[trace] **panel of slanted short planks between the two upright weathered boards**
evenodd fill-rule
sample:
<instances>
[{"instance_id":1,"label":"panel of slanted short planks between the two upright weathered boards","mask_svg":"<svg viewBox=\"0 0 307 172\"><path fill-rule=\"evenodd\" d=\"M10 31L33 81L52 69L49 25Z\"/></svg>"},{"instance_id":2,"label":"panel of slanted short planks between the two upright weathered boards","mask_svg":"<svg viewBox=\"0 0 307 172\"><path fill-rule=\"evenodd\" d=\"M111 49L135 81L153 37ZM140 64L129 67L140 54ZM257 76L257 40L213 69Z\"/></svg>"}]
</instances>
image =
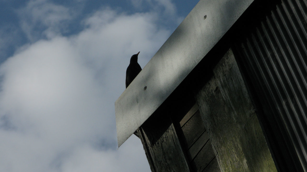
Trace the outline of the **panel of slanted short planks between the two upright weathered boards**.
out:
<instances>
[{"instance_id":1,"label":"panel of slanted short planks between the two upright weathered boards","mask_svg":"<svg viewBox=\"0 0 307 172\"><path fill-rule=\"evenodd\" d=\"M181 145L185 147L187 161L192 171L220 172L211 140L206 131L204 117L197 104L179 122L182 132Z\"/></svg>"}]
</instances>

